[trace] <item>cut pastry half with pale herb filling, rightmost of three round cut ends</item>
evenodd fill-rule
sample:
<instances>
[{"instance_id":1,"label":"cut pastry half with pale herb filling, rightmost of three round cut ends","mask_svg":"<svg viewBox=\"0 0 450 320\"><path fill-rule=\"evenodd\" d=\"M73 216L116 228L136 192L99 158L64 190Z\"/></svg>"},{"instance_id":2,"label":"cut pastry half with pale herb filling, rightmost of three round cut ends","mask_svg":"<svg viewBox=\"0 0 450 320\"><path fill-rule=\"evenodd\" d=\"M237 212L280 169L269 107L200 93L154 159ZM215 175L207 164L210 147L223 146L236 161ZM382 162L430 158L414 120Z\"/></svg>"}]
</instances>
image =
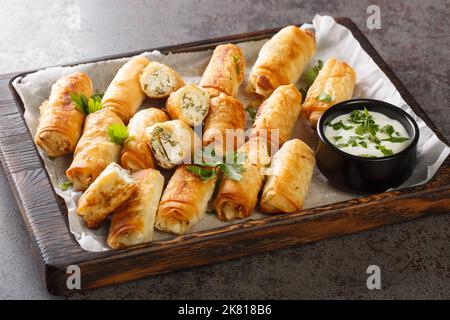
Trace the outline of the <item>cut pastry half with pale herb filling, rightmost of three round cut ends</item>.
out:
<instances>
[{"instance_id":1,"label":"cut pastry half with pale herb filling, rightmost of three round cut ends","mask_svg":"<svg viewBox=\"0 0 450 320\"><path fill-rule=\"evenodd\" d=\"M172 119L179 119L194 127L205 119L209 103L208 92L195 84L188 84L170 94L166 109Z\"/></svg>"}]
</instances>

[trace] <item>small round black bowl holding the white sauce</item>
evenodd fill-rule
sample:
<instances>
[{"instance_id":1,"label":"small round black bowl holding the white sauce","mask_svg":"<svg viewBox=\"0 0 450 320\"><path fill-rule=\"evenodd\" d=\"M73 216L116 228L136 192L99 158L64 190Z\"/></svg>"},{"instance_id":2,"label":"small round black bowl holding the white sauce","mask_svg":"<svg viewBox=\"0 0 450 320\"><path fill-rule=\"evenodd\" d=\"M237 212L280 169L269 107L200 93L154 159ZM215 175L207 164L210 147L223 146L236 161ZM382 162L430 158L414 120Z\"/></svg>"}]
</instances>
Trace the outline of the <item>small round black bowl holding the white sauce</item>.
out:
<instances>
[{"instance_id":1,"label":"small round black bowl holding the white sauce","mask_svg":"<svg viewBox=\"0 0 450 320\"><path fill-rule=\"evenodd\" d=\"M328 120L363 110L383 113L399 121L411 138L410 144L399 153L381 158L366 158L345 153L325 137L324 126ZM319 142L316 149L317 166L331 184L352 191L380 192L396 187L411 175L417 158L419 128L404 110L384 101L354 99L338 103L324 112L317 123Z\"/></svg>"}]
</instances>

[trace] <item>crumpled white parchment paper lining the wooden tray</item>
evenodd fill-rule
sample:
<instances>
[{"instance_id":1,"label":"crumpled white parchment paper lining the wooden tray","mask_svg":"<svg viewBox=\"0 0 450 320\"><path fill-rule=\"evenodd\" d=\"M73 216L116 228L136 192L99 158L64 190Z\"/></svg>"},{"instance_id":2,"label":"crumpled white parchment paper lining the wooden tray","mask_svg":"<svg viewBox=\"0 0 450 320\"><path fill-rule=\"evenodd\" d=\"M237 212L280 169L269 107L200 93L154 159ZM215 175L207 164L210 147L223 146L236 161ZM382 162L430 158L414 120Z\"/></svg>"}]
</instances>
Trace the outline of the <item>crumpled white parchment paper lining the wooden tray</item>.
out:
<instances>
[{"instance_id":1,"label":"crumpled white parchment paper lining the wooden tray","mask_svg":"<svg viewBox=\"0 0 450 320\"><path fill-rule=\"evenodd\" d=\"M417 168L408 181L400 186L400 188L422 184L430 180L450 153L450 148L437 138L422 119L414 114L388 77L361 48L358 41L347 28L337 24L331 17L319 15L314 17L312 25L304 25L303 28L313 28L316 34L318 51L313 61L311 61L310 66L315 65L319 59L325 61L330 57L336 57L346 61L356 70L357 74L354 98L371 98L390 102L406 110L416 120L420 129ZM246 79L265 41L267 40L239 44L246 58ZM198 83L209 62L211 53L212 51L203 51L162 55L155 51L150 53L145 52L143 54L150 60L159 61L173 67L186 83ZM116 59L82 64L74 67L52 67L29 74L21 79L16 79L14 87L24 102L25 121L32 135L35 135L38 125L38 108L48 98L51 85L58 78L74 71L83 71L91 77L96 90L104 91L117 70L126 61L127 59ZM250 101L244 92L245 86L246 83L244 82L241 85L238 98L244 105L247 105ZM301 83L298 86L301 86ZM146 101L142 108L149 106L161 106L161 102ZM314 147L316 141L314 132L304 119L299 119L293 137L304 140L311 147ZM67 180L65 170L69 167L72 156L66 156L52 161L42 151L39 152L44 160L45 167L56 193L66 202L70 231L75 235L81 247L89 251L109 250L106 244L109 226L105 224L105 226L98 230L90 230L85 227L81 218L76 215L76 203L81 193L73 192L72 190L61 191L58 188L61 182ZM332 187L316 169L305 201L305 208L345 201L359 196L359 194L348 193ZM259 219L265 216L265 214L255 210L250 219ZM218 220L214 215L207 214L205 219L195 225L190 232L217 228L230 223L236 222L223 222ZM155 239L158 240L173 237L173 235L159 231L155 232Z\"/></svg>"}]
</instances>

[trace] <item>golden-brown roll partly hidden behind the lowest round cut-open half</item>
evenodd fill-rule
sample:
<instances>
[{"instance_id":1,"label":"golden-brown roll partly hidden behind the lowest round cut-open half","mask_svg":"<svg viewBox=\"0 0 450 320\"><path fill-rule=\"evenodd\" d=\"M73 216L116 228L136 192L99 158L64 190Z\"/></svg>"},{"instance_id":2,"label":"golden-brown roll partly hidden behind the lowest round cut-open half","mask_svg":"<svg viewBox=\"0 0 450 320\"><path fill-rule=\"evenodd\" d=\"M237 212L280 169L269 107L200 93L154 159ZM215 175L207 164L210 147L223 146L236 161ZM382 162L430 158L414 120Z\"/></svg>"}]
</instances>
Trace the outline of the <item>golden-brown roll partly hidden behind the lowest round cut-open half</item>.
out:
<instances>
[{"instance_id":1,"label":"golden-brown roll partly hidden behind the lowest round cut-open half","mask_svg":"<svg viewBox=\"0 0 450 320\"><path fill-rule=\"evenodd\" d=\"M145 129L157 122L168 120L166 113L156 108L141 110L131 118L128 124L128 139L120 158L122 167L132 172L155 167L155 159L145 140Z\"/></svg>"}]
</instances>

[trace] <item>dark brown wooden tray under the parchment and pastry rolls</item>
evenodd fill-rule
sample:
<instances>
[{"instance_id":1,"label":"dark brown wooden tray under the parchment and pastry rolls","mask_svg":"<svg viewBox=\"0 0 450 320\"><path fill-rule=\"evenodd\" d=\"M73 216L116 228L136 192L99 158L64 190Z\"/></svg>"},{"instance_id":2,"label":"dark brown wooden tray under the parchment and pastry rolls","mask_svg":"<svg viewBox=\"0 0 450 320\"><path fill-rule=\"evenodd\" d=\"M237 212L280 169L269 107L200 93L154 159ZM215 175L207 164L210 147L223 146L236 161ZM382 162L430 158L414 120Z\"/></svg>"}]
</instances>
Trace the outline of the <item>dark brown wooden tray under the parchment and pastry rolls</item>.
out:
<instances>
[{"instance_id":1,"label":"dark brown wooden tray under the parchment and pastry rolls","mask_svg":"<svg viewBox=\"0 0 450 320\"><path fill-rule=\"evenodd\" d=\"M445 141L358 27L348 18L336 20L353 32L362 47L394 83L403 99ZM213 48L220 43L268 38L278 30L258 31L157 50L163 53L198 51ZM153 49L148 51L151 50ZM127 57L137 53L83 62ZM450 211L450 160L447 157L435 177L425 185L307 209L296 214L238 222L223 228L118 251L87 252L78 245L68 229L67 212L52 188L24 122L21 99L11 86L12 79L27 73L0 76L0 157L31 235L39 273L45 287L53 294L73 292L66 286L69 265L81 268L81 289L91 289Z\"/></svg>"}]
</instances>

